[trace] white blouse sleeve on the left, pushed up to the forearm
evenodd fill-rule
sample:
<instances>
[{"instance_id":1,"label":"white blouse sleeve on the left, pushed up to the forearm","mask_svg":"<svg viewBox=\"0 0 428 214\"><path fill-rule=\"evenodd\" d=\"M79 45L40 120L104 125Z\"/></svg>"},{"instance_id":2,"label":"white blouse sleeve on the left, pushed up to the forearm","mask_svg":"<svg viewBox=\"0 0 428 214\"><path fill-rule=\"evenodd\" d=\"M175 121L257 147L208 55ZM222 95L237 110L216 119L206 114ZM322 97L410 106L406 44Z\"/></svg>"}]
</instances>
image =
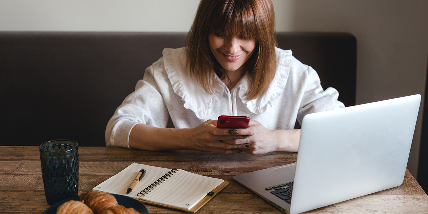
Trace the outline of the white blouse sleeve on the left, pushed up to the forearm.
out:
<instances>
[{"instance_id":1,"label":"white blouse sleeve on the left, pushed up to the forearm","mask_svg":"<svg viewBox=\"0 0 428 214\"><path fill-rule=\"evenodd\" d=\"M131 129L138 123L163 128L167 126L169 113L155 81L154 70L153 65L146 69L135 91L125 98L110 118L105 133L107 147L129 148Z\"/></svg>"}]
</instances>

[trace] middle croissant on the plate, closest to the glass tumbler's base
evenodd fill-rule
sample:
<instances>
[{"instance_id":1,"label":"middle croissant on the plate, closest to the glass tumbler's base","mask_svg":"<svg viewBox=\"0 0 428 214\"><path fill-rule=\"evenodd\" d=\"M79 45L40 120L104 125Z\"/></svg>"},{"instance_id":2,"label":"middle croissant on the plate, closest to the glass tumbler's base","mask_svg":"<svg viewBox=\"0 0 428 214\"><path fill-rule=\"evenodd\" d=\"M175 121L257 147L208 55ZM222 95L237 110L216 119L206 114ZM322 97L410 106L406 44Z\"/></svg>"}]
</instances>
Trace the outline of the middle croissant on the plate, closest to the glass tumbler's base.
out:
<instances>
[{"instance_id":1,"label":"middle croissant on the plate, closest to the glass tumbler's base","mask_svg":"<svg viewBox=\"0 0 428 214\"><path fill-rule=\"evenodd\" d=\"M113 195L92 190L82 193L79 199L88 205L95 214L100 214L105 209L118 205Z\"/></svg>"}]
</instances>

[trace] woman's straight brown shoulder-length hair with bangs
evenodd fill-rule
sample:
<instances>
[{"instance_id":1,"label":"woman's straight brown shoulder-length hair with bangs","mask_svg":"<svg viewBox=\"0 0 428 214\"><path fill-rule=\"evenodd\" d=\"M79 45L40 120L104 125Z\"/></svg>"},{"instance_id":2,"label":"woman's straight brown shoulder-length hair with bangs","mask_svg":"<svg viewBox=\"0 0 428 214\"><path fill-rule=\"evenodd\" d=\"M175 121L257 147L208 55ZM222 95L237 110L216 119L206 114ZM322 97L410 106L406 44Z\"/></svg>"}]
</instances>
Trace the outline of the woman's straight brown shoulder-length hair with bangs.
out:
<instances>
[{"instance_id":1,"label":"woman's straight brown shoulder-length hair with bangs","mask_svg":"<svg viewBox=\"0 0 428 214\"><path fill-rule=\"evenodd\" d=\"M211 53L208 35L219 31L227 35L238 27L245 38L256 40L254 53L245 64L251 81L245 96L253 100L268 90L275 76L275 14L271 0L201 0L186 38L186 64L193 78L212 94L209 71L214 68L222 79L226 73Z\"/></svg>"}]
</instances>

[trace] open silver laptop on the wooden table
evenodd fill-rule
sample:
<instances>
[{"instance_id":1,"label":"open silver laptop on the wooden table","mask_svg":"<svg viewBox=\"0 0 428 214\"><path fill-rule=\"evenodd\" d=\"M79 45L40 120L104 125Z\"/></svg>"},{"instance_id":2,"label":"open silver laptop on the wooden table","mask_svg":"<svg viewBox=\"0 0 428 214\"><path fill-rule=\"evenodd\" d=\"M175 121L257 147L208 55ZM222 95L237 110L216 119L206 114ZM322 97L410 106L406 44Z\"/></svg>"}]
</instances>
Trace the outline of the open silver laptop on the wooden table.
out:
<instances>
[{"instance_id":1,"label":"open silver laptop on the wooden table","mask_svg":"<svg viewBox=\"0 0 428 214\"><path fill-rule=\"evenodd\" d=\"M295 163L233 179L290 214L399 186L420 102L416 94L307 114Z\"/></svg>"}]
</instances>

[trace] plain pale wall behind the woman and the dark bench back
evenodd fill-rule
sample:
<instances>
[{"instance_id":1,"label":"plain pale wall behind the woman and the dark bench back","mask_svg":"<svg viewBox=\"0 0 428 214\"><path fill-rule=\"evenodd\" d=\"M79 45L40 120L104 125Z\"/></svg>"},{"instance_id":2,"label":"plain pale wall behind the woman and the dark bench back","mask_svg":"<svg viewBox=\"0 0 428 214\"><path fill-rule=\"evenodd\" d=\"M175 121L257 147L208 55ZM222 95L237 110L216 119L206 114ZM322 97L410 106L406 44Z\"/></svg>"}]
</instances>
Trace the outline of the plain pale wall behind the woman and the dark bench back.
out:
<instances>
[{"instance_id":1,"label":"plain pale wall behind the woman and the dark bench back","mask_svg":"<svg viewBox=\"0 0 428 214\"><path fill-rule=\"evenodd\" d=\"M198 3L199 0L1 0L0 30L187 32ZM357 37L357 104L410 94L424 96L428 1L273 3L278 32L350 32ZM408 163L414 176L421 121L422 110Z\"/></svg>"}]
</instances>

